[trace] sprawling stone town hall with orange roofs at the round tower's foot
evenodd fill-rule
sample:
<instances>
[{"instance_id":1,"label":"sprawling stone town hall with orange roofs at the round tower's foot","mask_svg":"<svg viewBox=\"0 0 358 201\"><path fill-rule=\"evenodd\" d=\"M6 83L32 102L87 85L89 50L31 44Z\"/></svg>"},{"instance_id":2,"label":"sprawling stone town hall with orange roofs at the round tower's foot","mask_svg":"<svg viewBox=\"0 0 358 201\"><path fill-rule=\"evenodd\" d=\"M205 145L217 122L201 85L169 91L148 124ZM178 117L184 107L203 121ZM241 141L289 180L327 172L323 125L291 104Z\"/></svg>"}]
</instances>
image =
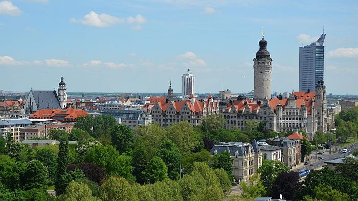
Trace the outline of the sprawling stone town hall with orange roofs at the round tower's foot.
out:
<instances>
[{"instance_id":1,"label":"sprawling stone town hall with orange roofs at the round tower's foot","mask_svg":"<svg viewBox=\"0 0 358 201\"><path fill-rule=\"evenodd\" d=\"M300 129L315 133L317 131L317 108L314 93L294 92L289 98L273 98L250 101L244 96L227 104L220 111L226 119L224 128L246 127L247 121L262 122L264 128L276 132L298 131Z\"/></svg>"}]
</instances>

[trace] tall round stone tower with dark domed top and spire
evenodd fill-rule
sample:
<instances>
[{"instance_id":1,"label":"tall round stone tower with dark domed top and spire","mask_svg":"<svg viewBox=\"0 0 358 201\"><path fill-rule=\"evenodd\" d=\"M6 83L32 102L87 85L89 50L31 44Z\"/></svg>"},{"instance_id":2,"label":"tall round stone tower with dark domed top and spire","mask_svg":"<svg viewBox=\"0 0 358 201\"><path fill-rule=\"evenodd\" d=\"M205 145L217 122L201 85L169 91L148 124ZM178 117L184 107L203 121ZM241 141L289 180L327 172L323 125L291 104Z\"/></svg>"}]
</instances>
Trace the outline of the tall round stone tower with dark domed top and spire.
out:
<instances>
[{"instance_id":1,"label":"tall round stone tower with dark domed top and spire","mask_svg":"<svg viewBox=\"0 0 358 201\"><path fill-rule=\"evenodd\" d=\"M254 58L254 100L262 101L271 99L271 70L272 58L267 51L267 41L263 38L259 41L260 50Z\"/></svg>"}]
</instances>

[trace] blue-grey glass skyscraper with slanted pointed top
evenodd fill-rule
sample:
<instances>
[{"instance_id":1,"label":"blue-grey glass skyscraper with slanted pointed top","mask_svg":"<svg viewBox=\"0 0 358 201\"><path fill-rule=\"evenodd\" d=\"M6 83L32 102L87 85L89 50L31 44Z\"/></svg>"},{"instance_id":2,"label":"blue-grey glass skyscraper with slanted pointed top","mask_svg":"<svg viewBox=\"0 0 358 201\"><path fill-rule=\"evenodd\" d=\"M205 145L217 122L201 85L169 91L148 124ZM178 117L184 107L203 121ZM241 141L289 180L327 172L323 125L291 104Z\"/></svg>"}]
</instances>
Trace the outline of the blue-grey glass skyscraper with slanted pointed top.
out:
<instances>
[{"instance_id":1,"label":"blue-grey glass skyscraper with slanted pointed top","mask_svg":"<svg viewBox=\"0 0 358 201\"><path fill-rule=\"evenodd\" d=\"M315 91L319 81L323 81L324 38L321 37L309 46L300 47L299 91Z\"/></svg>"}]
</instances>

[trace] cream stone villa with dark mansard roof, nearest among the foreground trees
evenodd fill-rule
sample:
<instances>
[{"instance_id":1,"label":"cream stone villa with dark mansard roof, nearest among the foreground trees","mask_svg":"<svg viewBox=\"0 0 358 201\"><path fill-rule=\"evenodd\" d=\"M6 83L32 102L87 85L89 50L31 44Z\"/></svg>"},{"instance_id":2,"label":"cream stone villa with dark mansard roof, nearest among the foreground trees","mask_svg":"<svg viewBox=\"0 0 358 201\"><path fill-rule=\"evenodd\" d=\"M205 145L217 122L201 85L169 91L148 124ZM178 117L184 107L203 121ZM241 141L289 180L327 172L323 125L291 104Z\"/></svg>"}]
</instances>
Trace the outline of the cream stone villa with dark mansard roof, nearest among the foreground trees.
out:
<instances>
[{"instance_id":1,"label":"cream stone villa with dark mansard roof, nearest among the foreground trees","mask_svg":"<svg viewBox=\"0 0 358 201\"><path fill-rule=\"evenodd\" d=\"M262 165L261 150L255 140L252 144L242 142L217 143L210 150L210 153L215 155L224 151L228 151L233 159L232 170L237 182L249 181Z\"/></svg>"}]
</instances>

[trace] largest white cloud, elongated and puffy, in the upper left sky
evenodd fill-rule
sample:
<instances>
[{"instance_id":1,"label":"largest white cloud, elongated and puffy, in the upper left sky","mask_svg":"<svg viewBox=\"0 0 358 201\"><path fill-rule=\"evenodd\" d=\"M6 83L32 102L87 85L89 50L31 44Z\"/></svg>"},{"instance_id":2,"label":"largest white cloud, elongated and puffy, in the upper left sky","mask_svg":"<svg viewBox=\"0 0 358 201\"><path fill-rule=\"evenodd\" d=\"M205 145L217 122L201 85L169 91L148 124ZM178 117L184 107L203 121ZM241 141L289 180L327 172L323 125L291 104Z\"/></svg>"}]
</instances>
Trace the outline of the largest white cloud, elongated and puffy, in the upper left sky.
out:
<instances>
[{"instance_id":1,"label":"largest white cloud, elongated and puffy, in the upper left sky","mask_svg":"<svg viewBox=\"0 0 358 201\"><path fill-rule=\"evenodd\" d=\"M97 14L96 12L91 11L88 14L84 15L82 19L71 18L70 21L71 23L81 23L87 26L103 28L123 23L135 25L145 24L147 19L142 15L137 15L136 17L129 16L127 18L120 18L105 13ZM141 27L138 26L134 27L135 30L138 30L138 28L141 29Z\"/></svg>"}]
</instances>

